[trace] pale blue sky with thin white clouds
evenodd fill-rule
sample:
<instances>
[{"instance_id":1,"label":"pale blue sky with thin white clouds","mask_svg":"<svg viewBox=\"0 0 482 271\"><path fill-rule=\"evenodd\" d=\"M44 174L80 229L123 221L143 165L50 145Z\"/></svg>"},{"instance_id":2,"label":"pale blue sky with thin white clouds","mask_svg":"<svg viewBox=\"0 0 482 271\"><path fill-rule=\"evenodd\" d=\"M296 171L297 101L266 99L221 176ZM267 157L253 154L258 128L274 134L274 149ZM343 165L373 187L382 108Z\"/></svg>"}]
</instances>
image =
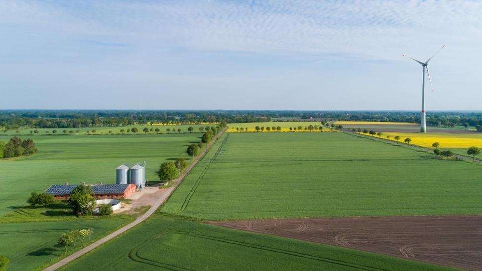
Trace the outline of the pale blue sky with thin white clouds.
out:
<instances>
[{"instance_id":1,"label":"pale blue sky with thin white clouds","mask_svg":"<svg viewBox=\"0 0 482 271\"><path fill-rule=\"evenodd\" d=\"M0 1L0 109L482 109L482 2Z\"/></svg>"}]
</instances>

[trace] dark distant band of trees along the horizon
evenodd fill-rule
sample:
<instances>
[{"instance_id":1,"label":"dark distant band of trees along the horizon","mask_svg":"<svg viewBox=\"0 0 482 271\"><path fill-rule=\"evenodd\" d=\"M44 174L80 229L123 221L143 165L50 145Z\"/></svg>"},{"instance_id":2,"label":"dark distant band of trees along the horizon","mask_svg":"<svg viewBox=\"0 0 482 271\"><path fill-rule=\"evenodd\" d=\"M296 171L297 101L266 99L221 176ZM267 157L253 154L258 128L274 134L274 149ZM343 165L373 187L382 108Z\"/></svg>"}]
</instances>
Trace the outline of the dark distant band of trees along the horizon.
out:
<instances>
[{"instance_id":1,"label":"dark distant band of trees along the horizon","mask_svg":"<svg viewBox=\"0 0 482 271\"><path fill-rule=\"evenodd\" d=\"M82 128L155 123L195 124L266 122L271 120L351 120L420 123L416 111L289 111L289 110L0 110L0 128ZM428 112L427 124L474 126L482 131L482 112Z\"/></svg>"}]
</instances>

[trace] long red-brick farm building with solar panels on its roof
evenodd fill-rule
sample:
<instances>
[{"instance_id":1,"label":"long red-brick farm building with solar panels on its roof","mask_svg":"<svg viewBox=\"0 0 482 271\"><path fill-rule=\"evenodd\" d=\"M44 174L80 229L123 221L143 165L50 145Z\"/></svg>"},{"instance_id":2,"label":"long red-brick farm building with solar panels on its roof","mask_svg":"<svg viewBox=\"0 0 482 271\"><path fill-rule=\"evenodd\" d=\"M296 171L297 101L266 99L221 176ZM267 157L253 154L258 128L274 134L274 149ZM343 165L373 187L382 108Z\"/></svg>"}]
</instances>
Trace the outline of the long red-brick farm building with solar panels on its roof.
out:
<instances>
[{"instance_id":1,"label":"long red-brick farm building with solar panels on its roof","mask_svg":"<svg viewBox=\"0 0 482 271\"><path fill-rule=\"evenodd\" d=\"M68 200L70 193L77 186L68 184L51 185L45 193L54 195L54 198L58 200ZM125 199L136 191L136 186L133 184L98 184L92 185L92 190L96 199Z\"/></svg>"}]
</instances>

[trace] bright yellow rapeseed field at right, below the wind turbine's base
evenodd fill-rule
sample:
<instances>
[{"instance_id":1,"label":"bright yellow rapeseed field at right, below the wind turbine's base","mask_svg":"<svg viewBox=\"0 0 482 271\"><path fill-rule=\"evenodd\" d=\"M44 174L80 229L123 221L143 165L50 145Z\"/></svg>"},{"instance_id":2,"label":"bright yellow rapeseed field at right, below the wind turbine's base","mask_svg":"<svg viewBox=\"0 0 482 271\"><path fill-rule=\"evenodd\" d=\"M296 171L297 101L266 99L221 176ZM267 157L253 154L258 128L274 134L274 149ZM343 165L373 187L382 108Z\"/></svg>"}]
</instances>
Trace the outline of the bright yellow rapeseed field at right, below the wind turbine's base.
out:
<instances>
[{"instance_id":1,"label":"bright yellow rapeseed field at right, below the wind turbine's base","mask_svg":"<svg viewBox=\"0 0 482 271\"><path fill-rule=\"evenodd\" d=\"M399 142L404 142L406 138L412 141L410 144L432 147L434 142L440 143L440 148L470 148L472 146L482 148L482 134L471 133L442 133L442 132L384 132L382 138L387 138L390 135L390 140L395 141L394 137L398 135L401 139ZM378 138L378 135L375 135Z\"/></svg>"}]
</instances>

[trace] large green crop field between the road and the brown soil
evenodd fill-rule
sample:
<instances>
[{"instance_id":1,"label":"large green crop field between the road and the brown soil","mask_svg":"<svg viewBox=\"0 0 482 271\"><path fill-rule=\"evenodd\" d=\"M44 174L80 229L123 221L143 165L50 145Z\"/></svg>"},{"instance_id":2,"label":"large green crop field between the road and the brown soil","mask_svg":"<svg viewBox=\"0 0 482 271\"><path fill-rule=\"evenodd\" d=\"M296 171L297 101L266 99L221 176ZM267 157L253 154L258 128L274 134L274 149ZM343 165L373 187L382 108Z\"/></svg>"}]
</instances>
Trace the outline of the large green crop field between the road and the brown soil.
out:
<instances>
[{"instance_id":1,"label":"large green crop field between the road and the brown soil","mask_svg":"<svg viewBox=\"0 0 482 271\"><path fill-rule=\"evenodd\" d=\"M482 165L344 133L229 133L163 207L212 220L482 214Z\"/></svg>"}]
</instances>

